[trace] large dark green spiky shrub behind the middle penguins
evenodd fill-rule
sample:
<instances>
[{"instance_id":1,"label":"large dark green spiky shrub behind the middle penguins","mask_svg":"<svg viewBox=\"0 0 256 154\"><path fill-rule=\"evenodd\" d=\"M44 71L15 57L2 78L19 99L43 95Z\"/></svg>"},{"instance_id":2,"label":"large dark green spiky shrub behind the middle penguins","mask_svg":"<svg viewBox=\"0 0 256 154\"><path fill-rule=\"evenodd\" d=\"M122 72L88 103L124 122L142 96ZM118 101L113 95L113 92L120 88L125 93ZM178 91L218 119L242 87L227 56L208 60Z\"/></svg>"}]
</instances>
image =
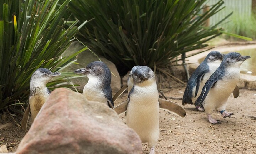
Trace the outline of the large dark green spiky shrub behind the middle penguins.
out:
<instances>
[{"instance_id":1,"label":"large dark green spiky shrub behind the middle penguins","mask_svg":"<svg viewBox=\"0 0 256 154\"><path fill-rule=\"evenodd\" d=\"M223 1L202 14L206 0L74 0L74 19L90 20L80 38L114 62L121 75L134 65L163 68L177 56L206 47L222 29L204 27Z\"/></svg>"}]
</instances>

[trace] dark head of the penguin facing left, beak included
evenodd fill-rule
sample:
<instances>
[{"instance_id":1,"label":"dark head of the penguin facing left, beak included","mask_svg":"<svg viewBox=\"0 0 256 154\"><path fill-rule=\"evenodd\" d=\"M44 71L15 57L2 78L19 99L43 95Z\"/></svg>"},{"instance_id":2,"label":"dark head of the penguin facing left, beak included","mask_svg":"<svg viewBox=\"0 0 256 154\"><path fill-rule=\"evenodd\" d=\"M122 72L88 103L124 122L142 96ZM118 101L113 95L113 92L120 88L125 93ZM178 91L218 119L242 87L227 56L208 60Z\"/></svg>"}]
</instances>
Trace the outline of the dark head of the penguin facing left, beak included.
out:
<instances>
[{"instance_id":1,"label":"dark head of the penguin facing left, beak included","mask_svg":"<svg viewBox=\"0 0 256 154\"><path fill-rule=\"evenodd\" d=\"M108 66L102 61L93 61L89 63L85 68L75 70L74 73L84 74L88 78L99 77L102 79L110 78L111 80L111 72Z\"/></svg>"}]
</instances>

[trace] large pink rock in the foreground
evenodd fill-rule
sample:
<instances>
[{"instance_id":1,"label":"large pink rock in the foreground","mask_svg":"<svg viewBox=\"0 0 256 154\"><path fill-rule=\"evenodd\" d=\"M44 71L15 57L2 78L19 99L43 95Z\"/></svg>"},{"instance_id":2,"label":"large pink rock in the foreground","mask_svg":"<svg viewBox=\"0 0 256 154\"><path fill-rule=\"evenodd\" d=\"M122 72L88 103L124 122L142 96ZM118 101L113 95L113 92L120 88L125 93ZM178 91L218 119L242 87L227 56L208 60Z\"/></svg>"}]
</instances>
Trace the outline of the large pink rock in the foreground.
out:
<instances>
[{"instance_id":1,"label":"large pink rock in the foreground","mask_svg":"<svg viewBox=\"0 0 256 154\"><path fill-rule=\"evenodd\" d=\"M104 103L54 90L21 140L16 154L142 153L139 136Z\"/></svg>"}]
</instances>

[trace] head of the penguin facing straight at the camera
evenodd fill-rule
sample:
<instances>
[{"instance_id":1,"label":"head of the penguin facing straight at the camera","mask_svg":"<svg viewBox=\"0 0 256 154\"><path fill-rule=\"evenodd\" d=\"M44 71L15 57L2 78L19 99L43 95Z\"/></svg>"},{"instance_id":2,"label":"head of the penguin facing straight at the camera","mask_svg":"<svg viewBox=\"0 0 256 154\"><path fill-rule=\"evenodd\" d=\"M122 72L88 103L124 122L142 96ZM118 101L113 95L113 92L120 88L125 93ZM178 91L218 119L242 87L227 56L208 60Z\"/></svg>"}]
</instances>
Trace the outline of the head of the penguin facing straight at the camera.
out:
<instances>
[{"instance_id":1,"label":"head of the penguin facing straight at the camera","mask_svg":"<svg viewBox=\"0 0 256 154\"><path fill-rule=\"evenodd\" d=\"M155 80L154 72L148 66L138 66L133 73L134 84Z\"/></svg>"}]
</instances>

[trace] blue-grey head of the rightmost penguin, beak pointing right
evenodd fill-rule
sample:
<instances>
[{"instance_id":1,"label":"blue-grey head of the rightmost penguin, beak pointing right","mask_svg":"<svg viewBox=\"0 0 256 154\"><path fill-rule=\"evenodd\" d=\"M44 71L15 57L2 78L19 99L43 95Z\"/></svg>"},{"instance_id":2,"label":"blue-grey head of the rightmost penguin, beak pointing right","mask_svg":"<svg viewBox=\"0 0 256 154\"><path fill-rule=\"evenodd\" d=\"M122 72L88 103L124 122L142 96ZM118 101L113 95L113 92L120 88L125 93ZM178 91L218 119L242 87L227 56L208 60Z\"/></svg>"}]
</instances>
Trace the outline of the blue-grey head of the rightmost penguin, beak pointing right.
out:
<instances>
[{"instance_id":1,"label":"blue-grey head of the rightmost penguin, beak pointing right","mask_svg":"<svg viewBox=\"0 0 256 154\"><path fill-rule=\"evenodd\" d=\"M249 59L249 58L251 57L241 56L241 54L237 52L230 52L224 56L222 63L227 66L230 66L230 65L240 66L246 59Z\"/></svg>"}]
</instances>

